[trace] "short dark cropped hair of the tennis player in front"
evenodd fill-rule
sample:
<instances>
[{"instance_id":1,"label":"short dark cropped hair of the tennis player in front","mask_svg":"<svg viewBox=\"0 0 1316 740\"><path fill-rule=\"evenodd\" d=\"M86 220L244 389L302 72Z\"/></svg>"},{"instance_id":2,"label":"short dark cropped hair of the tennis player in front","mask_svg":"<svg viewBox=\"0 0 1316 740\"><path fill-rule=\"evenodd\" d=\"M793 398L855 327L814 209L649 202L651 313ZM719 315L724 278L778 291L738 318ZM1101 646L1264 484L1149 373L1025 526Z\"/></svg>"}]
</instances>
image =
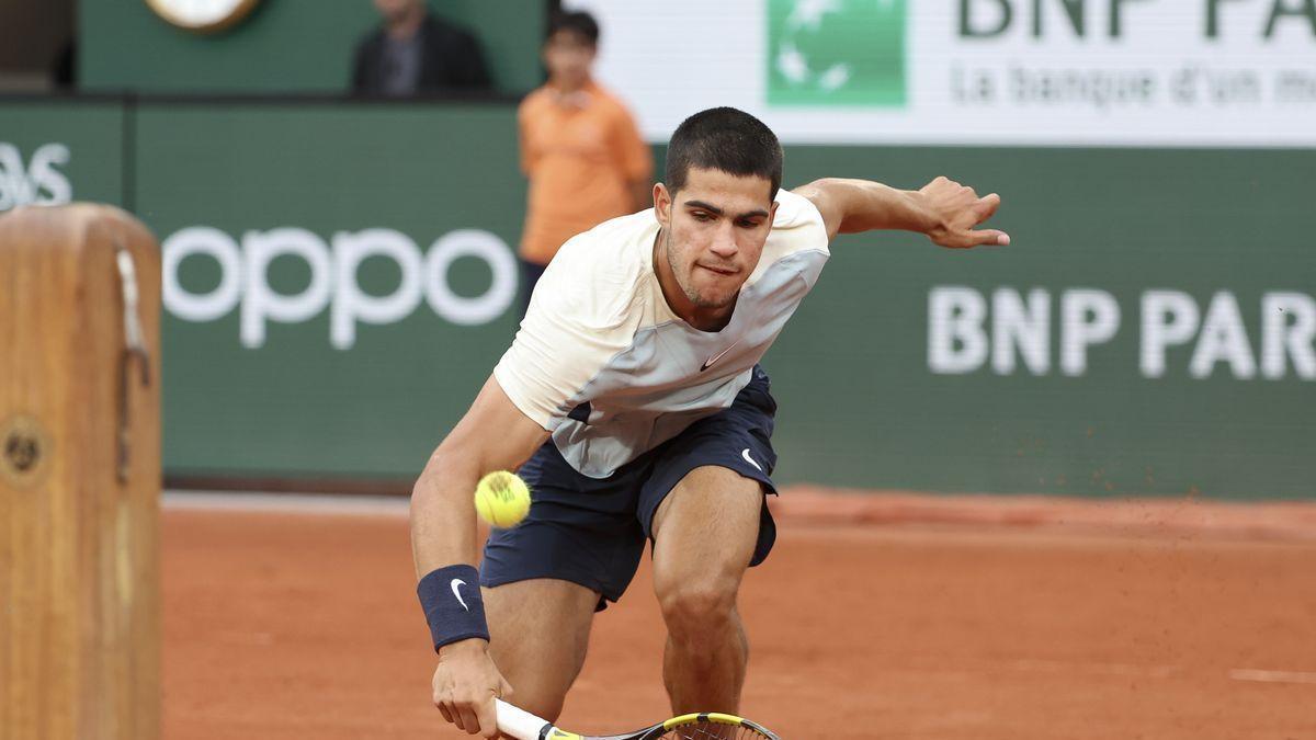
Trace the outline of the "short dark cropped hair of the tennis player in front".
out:
<instances>
[{"instance_id":1,"label":"short dark cropped hair of the tennis player in front","mask_svg":"<svg viewBox=\"0 0 1316 740\"><path fill-rule=\"evenodd\" d=\"M782 187L782 145L763 121L736 108L709 108L686 119L667 145L667 190L686 187L691 167L754 175Z\"/></svg>"}]
</instances>

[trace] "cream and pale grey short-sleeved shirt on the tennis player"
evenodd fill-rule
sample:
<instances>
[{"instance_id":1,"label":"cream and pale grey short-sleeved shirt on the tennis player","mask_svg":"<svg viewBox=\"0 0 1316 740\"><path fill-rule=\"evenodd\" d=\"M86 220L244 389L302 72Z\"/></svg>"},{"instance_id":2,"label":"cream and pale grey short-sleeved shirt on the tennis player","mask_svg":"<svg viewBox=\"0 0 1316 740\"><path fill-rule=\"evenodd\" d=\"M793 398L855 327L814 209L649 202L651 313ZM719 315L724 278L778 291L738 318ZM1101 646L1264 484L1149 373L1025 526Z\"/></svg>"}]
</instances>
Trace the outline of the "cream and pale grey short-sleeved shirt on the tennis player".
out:
<instances>
[{"instance_id":1,"label":"cream and pale grey short-sleeved shirt on the tennis player","mask_svg":"<svg viewBox=\"0 0 1316 740\"><path fill-rule=\"evenodd\" d=\"M605 221L553 258L494 377L579 473L607 478L749 383L830 255L813 203L788 191L776 201L763 255L720 332L667 305L653 209Z\"/></svg>"}]
</instances>

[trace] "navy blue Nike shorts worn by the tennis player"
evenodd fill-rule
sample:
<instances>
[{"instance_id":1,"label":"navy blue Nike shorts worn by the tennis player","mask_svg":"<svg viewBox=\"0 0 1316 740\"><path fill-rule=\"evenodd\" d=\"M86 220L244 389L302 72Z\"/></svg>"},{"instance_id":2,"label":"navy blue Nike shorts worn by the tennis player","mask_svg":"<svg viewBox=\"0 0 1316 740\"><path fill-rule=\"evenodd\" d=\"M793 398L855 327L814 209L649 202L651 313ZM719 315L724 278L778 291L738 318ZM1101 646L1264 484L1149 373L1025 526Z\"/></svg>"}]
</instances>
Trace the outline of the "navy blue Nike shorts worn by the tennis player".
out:
<instances>
[{"instance_id":1,"label":"navy blue Nike shorts worn by the tennis player","mask_svg":"<svg viewBox=\"0 0 1316 740\"><path fill-rule=\"evenodd\" d=\"M653 517L667 492L691 470L716 465L753 478L775 494L772 419L776 402L758 366L729 408L617 469L604 479L582 475L549 440L521 466L534 504L511 529L495 529L484 545L480 583L501 586L529 578L571 581L603 594L599 608L616 602L640 568ZM763 503L750 565L767 558L776 525Z\"/></svg>"}]
</instances>

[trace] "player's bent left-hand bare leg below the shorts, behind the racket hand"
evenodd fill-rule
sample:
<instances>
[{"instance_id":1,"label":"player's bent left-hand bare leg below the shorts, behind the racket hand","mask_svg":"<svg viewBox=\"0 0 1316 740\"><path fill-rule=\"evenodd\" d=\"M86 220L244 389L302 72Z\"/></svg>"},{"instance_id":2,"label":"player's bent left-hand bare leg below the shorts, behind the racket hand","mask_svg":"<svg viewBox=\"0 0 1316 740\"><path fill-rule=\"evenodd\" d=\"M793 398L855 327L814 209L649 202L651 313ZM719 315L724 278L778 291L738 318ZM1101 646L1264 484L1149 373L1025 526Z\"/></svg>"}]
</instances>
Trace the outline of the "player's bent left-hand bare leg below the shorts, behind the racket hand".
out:
<instances>
[{"instance_id":1,"label":"player's bent left-hand bare leg below the shorts, behind the racket hand","mask_svg":"<svg viewBox=\"0 0 1316 740\"><path fill-rule=\"evenodd\" d=\"M554 578L483 591L490 657L515 691L508 700L555 720L584 665L599 593Z\"/></svg>"}]
</instances>

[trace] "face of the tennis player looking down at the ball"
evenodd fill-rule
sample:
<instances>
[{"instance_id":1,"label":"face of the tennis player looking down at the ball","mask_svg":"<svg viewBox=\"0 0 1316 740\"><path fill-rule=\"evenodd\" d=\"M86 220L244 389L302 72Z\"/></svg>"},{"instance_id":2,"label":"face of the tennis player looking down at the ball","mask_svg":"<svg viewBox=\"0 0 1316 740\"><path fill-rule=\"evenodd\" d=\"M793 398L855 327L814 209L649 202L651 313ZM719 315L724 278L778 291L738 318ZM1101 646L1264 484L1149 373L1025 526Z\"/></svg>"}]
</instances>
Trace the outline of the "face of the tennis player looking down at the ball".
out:
<instances>
[{"instance_id":1,"label":"face of the tennis player looking down at the ball","mask_svg":"<svg viewBox=\"0 0 1316 740\"><path fill-rule=\"evenodd\" d=\"M654 205L663 228L658 257L666 257L658 277L665 292L679 288L695 313L734 307L772 228L776 204L771 192L767 178L704 169L691 169L675 194L655 186ZM687 308L674 307L678 313Z\"/></svg>"}]
</instances>

